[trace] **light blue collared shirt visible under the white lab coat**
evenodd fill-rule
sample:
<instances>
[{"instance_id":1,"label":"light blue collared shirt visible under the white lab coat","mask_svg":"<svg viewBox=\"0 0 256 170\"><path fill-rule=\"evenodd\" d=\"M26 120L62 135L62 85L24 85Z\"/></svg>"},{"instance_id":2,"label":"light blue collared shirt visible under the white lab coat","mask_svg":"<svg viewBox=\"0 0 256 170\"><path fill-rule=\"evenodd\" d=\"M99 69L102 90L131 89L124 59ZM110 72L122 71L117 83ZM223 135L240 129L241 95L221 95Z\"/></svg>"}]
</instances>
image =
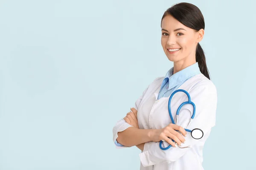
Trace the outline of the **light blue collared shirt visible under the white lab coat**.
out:
<instances>
[{"instance_id":1,"label":"light blue collared shirt visible under the white lab coat","mask_svg":"<svg viewBox=\"0 0 256 170\"><path fill-rule=\"evenodd\" d=\"M158 98L161 97L168 97L171 96L172 92L177 90L186 80L190 79L191 77L200 74L200 69L198 66L198 62L193 65L190 65L187 68L173 74L173 67L166 73L165 78L161 84L161 88L158 94ZM123 146L115 141L117 146Z\"/></svg>"}]
</instances>

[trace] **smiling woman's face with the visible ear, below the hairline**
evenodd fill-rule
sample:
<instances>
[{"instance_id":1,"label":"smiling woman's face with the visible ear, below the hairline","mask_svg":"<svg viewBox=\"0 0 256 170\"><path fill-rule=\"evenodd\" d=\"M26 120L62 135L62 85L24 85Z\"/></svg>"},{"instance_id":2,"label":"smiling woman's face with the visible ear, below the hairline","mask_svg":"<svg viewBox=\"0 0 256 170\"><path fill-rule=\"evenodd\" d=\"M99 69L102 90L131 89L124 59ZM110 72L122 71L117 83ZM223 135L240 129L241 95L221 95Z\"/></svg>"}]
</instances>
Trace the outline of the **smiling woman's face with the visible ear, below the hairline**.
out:
<instances>
[{"instance_id":1,"label":"smiling woman's face with the visible ear, below the hairline","mask_svg":"<svg viewBox=\"0 0 256 170\"><path fill-rule=\"evenodd\" d=\"M195 60L196 45L202 40L204 29L186 27L171 15L163 18L161 28L161 44L170 61Z\"/></svg>"}]
</instances>

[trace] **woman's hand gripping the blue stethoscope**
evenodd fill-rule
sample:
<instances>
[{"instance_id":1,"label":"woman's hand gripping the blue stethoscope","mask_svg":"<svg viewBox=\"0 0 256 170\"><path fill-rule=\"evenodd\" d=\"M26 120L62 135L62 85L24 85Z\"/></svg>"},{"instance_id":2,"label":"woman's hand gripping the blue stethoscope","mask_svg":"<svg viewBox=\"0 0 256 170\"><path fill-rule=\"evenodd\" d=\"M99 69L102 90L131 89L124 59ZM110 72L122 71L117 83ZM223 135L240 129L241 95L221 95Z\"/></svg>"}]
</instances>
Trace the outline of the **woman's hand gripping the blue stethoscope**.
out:
<instances>
[{"instance_id":1,"label":"woman's hand gripping the blue stethoscope","mask_svg":"<svg viewBox=\"0 0 256 170\"><path fill-rule=\"evenodd\" d=\"M172 139L178 145L180 145L181 143L185 143L185 138L176 130L180 131L183 136L186 136L186 130L183 127L171 123L162 129L152 130L150 138L153 142L159 142L160 140L164 140L171 144L173 147L176 147L175 143L172 142ZM169 139L168 137L170 137L171 139Z\"/></svg>"}]
</instances>

